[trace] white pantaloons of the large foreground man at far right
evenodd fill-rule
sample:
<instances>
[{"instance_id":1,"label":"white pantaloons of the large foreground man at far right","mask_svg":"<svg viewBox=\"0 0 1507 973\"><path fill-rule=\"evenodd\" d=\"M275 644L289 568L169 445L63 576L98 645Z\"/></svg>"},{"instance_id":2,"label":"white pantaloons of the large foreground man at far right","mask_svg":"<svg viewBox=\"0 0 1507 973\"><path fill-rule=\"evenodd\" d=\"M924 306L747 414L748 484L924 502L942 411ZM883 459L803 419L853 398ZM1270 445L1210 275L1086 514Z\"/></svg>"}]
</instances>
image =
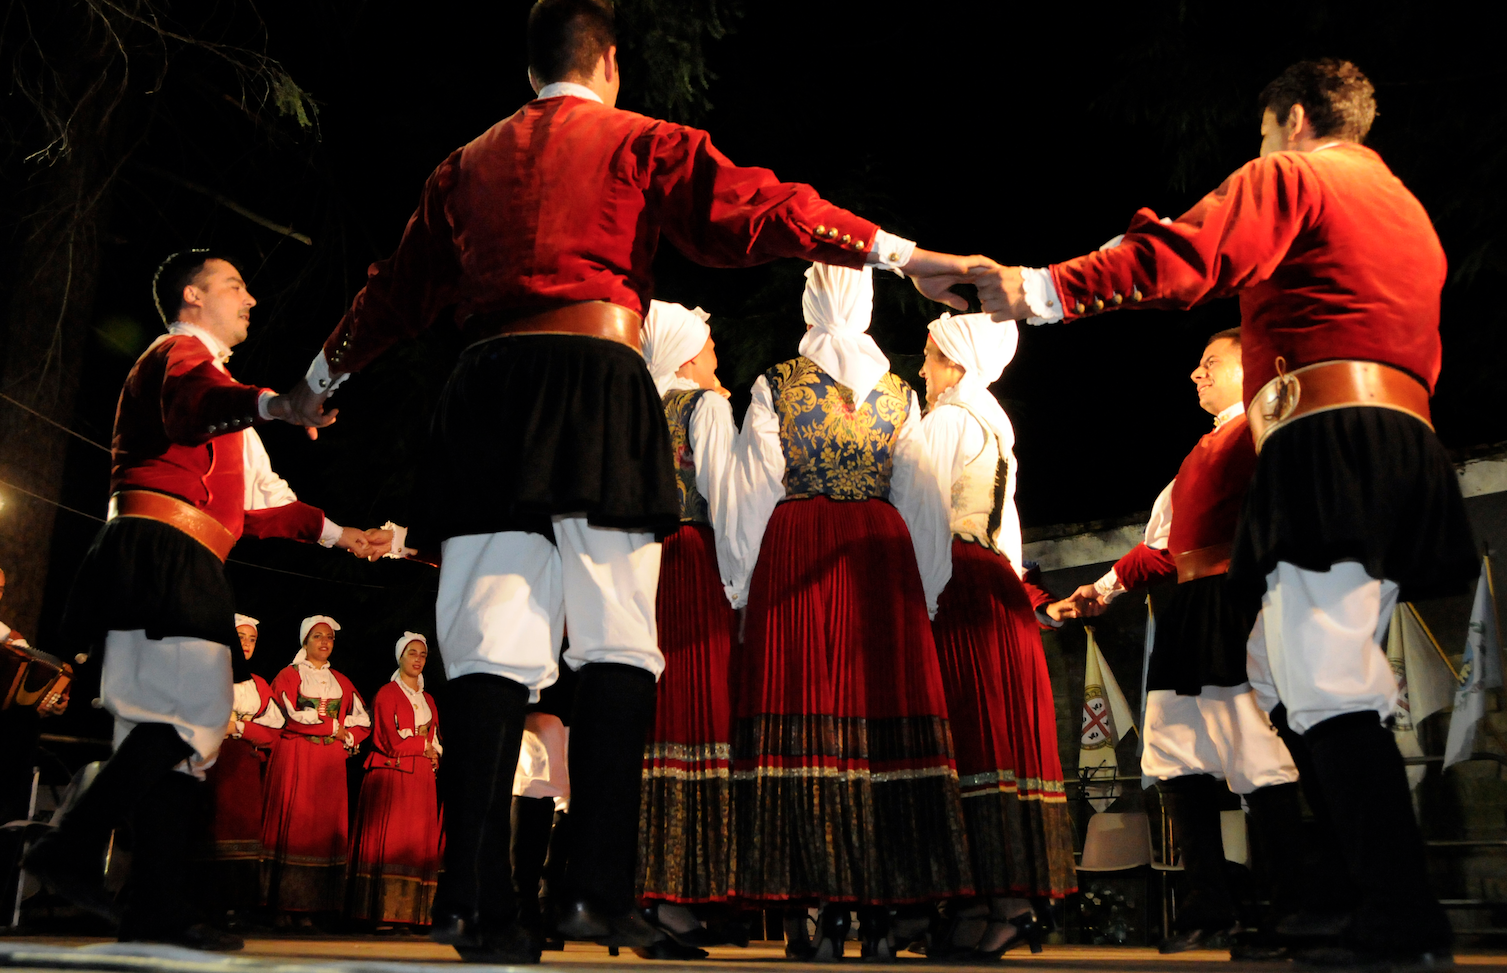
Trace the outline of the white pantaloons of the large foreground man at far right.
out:
<instances>
[{"instance_id":1,"label":"white pantaloons of the large foreground man at far right","mask_svg":"<svg viewBox=\"0 0 1507 973\"><path fill-rule=\"evenodd\" d=\"M1246 672L1261 708L1281 700L1299 734L1347 712L1391 717L1397 676L1386 661L1386 627L1397 584L1341 560L1328 571L1284 562L1266 575L1251 630Z\"/></svg>"}]
</instances>

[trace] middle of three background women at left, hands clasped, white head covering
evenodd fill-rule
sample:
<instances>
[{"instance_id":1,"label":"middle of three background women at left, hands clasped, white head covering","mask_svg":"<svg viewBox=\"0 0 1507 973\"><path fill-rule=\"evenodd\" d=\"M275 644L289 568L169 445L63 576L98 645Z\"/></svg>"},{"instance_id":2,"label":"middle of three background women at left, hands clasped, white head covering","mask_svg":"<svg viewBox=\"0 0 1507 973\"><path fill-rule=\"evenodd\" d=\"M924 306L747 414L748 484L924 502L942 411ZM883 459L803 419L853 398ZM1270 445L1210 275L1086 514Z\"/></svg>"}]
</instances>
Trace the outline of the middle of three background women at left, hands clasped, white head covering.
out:
<instances>
[{"instance_id":1,"label":"middle of three background women at left, hands clasped, white head covering","mask_svg":"<svg viewBox=\"0 0 1507 973\"><path fill-rule=\"evenodd\" d=\"M288 720L267 767L262 821L271 866L267 905L283 913L279 925L312 926L310 913L345 905L345 759L372 721L356 685L330 667L338 631L341 624L329 615L303 619L301 648L271 685Z\"/></svg>"}]
</instances>

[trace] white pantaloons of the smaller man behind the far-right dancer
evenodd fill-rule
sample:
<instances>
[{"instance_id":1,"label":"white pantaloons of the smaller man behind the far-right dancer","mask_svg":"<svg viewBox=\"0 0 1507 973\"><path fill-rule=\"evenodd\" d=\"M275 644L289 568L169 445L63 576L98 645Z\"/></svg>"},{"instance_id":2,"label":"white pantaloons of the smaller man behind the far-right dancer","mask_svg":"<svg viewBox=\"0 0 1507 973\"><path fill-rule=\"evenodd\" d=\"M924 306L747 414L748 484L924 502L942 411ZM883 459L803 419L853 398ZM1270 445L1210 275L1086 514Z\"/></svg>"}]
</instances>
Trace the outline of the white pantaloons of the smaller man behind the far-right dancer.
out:
<instances>
[{"instance_id":1,"label":"white pantaloons of the smaller man behind the far-right dancer","mask_svg":"<svg viewBox=\"0 0 1507 973\"><path fill-rule=\"evenodd\" d=\"M1298 768L1251 684L1206 685L1200 696L1145 694L1141 773L1157 780L1210 774L1236 794L1298 780Z\"/></svg>"}]
</instances>

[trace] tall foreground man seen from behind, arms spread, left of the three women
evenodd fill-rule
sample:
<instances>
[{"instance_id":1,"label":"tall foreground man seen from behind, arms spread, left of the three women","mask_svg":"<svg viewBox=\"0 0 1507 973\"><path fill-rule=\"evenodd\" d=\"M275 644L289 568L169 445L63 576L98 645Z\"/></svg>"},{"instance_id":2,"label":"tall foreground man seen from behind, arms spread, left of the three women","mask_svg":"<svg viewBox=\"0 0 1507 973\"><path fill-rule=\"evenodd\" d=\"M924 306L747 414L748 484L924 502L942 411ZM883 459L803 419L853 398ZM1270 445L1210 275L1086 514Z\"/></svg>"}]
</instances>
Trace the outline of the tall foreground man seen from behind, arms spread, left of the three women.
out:
<instances>
[{"instance_id":1,"label":"tall foreground man seen from behind, arms spread, left of the three women","mask_svg":"<svg viewBox=\"0 0 1507 973\"><path fill-rule=\"evenodd\" d=\"M442 312L475 342L434 416L428 523L413 532L442 542L436 610L451 678L433 935L497 962L536 961L538 946L515 922L509 795L491 782L512 773L524 706L555 682L567 624L565 663L580 673L570 758L579 837L561 929L607 944L654 938L633 908L633 860L665 664L656 535L680 521L669 431L639 354L660 239L708 267L871 264L958 307L928 276L967 267L808 185L734 166L704 131L616 108L604 2L536 3L529 65L538 98L434 170L396 253L372 265L300 396L312 420L345 375Z\"/></svg>"}]
</instances>

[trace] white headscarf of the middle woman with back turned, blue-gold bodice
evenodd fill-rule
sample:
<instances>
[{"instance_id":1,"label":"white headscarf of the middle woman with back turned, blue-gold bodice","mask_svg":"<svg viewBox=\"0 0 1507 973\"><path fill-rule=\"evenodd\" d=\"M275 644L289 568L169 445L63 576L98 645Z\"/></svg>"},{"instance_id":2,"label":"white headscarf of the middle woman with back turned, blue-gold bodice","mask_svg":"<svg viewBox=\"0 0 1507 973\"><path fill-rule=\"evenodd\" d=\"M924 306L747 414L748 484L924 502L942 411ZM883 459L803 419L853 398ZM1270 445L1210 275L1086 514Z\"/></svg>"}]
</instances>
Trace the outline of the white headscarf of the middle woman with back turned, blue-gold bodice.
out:
<instances>
[{"instance_id":1,"label":"white headscarf of the middle woman with back turned, blue-gold bodice","mask_svg":"<svg viewBox=\"0 0 1507 973\"><path fill-rule=\"evenodd\" d=\"M806 270L800 310L811 330L800 339L800 354L853 390L859 405L889 371L889 358L865 334L874 316L874 271L832 264Z\"/></svg>"}]
</instances>

